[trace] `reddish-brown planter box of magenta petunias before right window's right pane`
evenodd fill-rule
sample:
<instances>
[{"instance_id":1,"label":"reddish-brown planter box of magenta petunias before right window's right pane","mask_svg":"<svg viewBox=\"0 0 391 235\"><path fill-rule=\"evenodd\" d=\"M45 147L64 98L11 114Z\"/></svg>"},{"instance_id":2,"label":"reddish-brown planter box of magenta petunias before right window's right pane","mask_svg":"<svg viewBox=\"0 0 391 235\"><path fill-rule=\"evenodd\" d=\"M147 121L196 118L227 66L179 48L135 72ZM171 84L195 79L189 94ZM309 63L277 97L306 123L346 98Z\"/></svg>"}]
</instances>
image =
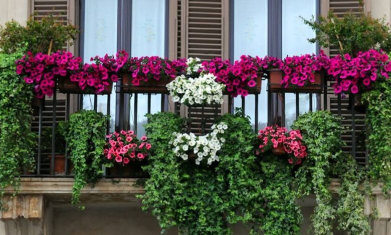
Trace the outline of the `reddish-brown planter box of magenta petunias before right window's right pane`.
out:
<instances>
[{"instance_id":1,"label":"reddish-brown planter box of magenta petunias before right window's right pane","mask_svg":"<svg viewBox=\"0 0 391 235\"><path fill-rule=\"evenodd\" d=\"M300 92L300 93L322 93L324 73L315 72L315 82L304 86L295 86L284 88L281 80L284 77L284 72L280 69L270 69L268 71L269 88L272 92Z\"/></svg>"}]
</instances>

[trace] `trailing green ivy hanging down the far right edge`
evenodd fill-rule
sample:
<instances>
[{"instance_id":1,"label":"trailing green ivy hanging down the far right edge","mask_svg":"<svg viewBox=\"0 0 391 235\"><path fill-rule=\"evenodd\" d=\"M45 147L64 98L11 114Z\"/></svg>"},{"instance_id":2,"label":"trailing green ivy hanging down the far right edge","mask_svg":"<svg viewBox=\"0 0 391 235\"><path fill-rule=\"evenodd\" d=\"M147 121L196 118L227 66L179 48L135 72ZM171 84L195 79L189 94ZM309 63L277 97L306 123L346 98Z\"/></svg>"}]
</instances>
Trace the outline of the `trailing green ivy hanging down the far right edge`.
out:
<instances>
[{"instance_id":1,"label":"trailing green ivy hanging down the far right edge","mask_svg":"<svg viewBox=\"0 0 391 235\"><path fill-rule=\"evenodd\" d=\"M374 83L371 90L363 93L368 104L365 125L367 149L369 149L369 176L373 181L384 183L383 192L391 189L391 80Z\"/></svg>"}]
</instances>

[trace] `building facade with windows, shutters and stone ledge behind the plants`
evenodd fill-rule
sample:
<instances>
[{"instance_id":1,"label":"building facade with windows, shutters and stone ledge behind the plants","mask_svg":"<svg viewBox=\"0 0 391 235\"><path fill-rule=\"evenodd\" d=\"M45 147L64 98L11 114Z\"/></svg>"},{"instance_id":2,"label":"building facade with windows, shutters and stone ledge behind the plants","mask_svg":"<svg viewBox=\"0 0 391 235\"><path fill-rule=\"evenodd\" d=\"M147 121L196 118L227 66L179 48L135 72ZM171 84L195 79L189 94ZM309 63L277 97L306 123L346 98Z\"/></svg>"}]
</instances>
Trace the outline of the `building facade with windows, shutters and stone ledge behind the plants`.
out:
<instances>
[{"instance_id":1,"label":"building facade with windows, shutters and stone ledge behind the plants","mask_svg":"<svg viewBox=\"0 0 391 235\"><path fill-rule=\"evenodd\" d=\"M209 60L222 57L234 61L242 54L286 55L319 53L320 49L332 55L334 48L320 48L307 38L314 32L299 16L326 15L332 9L339 15L357 11L358 1L341 0L0 0L0 25L16 19L24 23L35 13L35 18L53 14L80 27L80 37L68 49L85 61L95 55L114 54L125 49L130 56L158 55L169 59L199 57ZM391 18L391 0L366 0L365 10L374 17ZM145 133L144 115L160 110L175 111L195 118L200 110L177 106L162 94L69 95L58 93L47 100L47 110L35 110L33 128L51 126L54 121L67 119L78 109L95 109L110 115L108 131L134 129L138 136ZM309 110L327 109L351 120L362 120L357 113L340 111L337 102L348 98L311 93L275 94L264 83L260 94L228 100L220 113L242 107L251 117L255 130L270 123L289 126L296 117ZM55 104L56 103L56 104ZM205 111L208 114L208 110ZM210 111L211 112L211 111ZM38 123L40 116L44 120ZM48 119L47 122L45 120ZM356 144L360 125L351 130L344 150L352 152L357 161L365 164L365 149ZM41 159L41 158L40 158ZM21 191L8 200L10 210L2 213L0 234L159 234L156 219L141 210L135 197L143 189L134 185L133 177L113 183L110 177L102 179L94 188L86 187L82 200L86 210L72 206L70 201L72 177L54 176L45 161L38 161L34 177L23 177ZM69 175L68 175L69 176ZM109 175L108 175L109 176ZM330 187L336 190L338 180ZM12 189L9 191L12 192ZM376 194L378 193L378 195ZM374 190L380 220L372 222L373 234L391 234L390 201ZM300 201L304 221L302 234L310 224L315 199ZM248 234L245 226L234 227L234 234ZM176 229L168 234L177 234ZM339 234L337 231L335 234ZM342 234L342 233L341 233Z\"/></svg>"}]
</instances>

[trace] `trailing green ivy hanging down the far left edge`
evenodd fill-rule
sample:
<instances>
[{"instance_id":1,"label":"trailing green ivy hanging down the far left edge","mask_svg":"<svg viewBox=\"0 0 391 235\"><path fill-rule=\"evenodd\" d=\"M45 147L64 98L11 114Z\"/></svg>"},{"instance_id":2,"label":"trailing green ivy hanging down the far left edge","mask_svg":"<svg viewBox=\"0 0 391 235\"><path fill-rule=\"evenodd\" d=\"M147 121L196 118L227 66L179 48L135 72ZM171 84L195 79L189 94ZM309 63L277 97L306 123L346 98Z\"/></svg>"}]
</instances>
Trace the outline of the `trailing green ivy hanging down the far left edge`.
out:
<instances>
[{"instance_id":1,"label":"trailing green ivy hanging down the far left edge","mask_svg":"<svg viewBox=\"0 0 391 235\"><path fill-rule=\"evenodd\" d=\"M18 189L20 174L34 166L33 89L15 72L15 60L21 57L0 53L0 197L7 186Z\"/></svg>"}]
</instances>

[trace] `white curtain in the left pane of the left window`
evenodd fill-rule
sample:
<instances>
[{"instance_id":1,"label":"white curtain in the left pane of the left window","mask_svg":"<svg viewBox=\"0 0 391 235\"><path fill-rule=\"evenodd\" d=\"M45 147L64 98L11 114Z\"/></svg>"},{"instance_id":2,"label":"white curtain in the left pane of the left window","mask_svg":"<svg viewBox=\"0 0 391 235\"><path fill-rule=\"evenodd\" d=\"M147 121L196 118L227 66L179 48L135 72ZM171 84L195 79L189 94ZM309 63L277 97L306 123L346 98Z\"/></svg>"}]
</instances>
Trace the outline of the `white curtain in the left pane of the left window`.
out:
<instances>
[{"instance_id":1,"label":"white curtain in the left pane of the left window","mask_svg":"<svg viewBox=\"0 0 391 235\"><path fill-rule=\"evenodd\" d=\"M85 0L82 25L83 59L89 62L96 55L115 54L117 51L118 0ZM113 84L115 85L115 84ZM110 97L110 129L115 127L115 88ZM107 114L107 95L98 95L97 110ZM83 108L94 108L94 95L83 95Z\"/></svg>"}]
</instances>

